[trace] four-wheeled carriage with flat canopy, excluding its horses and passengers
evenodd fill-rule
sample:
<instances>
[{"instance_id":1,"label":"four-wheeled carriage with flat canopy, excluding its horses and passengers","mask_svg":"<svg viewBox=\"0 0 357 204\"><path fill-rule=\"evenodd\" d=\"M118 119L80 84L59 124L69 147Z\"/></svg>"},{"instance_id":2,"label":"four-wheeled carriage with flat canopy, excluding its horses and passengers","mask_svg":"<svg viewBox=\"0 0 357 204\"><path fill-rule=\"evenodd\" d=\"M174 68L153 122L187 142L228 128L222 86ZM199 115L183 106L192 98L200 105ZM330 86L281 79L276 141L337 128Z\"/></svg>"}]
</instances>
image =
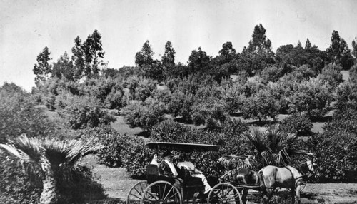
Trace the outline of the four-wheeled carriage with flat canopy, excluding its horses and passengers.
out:
<instances>
[{"instance_id":1,"label":"four-wheeled carriage with flat canopy, excluding its horses and passengers","mask_svg":"<svg viewBox=\"0 0 357 204\"><path fill-rule=\"evenodd\" d=\"M192 151L218 151L219 146L192 143L148 143L151 149ZM214 185L207 195L202 195L203 183L190 175L183 175L181 189L174 178L161 175L157 165L146 168L147 180L136 183L128 193L126 204L131 203L241 203L241 194L231 183Z\"/></svg>"}]
</instances>

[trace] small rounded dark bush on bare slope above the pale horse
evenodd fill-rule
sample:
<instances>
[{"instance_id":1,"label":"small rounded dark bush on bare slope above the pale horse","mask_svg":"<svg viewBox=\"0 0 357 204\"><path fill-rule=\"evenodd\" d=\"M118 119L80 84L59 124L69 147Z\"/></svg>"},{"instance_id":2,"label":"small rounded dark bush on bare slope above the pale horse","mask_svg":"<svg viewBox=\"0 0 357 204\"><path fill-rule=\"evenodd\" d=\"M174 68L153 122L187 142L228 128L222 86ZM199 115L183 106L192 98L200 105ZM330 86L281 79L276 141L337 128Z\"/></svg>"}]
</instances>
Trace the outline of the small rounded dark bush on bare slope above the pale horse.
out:
<instances>
[{"instance_id":1,"label":"small rounded dark bush on bare slope above the pale horse","mask_svg":"<svg viewBox=\"0 0 357 204\"><path fill-rule=\"evenodd\" d=\"M281 131L296 133L297 136L310 136L313 123L305 113L293 113L281 121Z\"/></svg>"}]
</instances>

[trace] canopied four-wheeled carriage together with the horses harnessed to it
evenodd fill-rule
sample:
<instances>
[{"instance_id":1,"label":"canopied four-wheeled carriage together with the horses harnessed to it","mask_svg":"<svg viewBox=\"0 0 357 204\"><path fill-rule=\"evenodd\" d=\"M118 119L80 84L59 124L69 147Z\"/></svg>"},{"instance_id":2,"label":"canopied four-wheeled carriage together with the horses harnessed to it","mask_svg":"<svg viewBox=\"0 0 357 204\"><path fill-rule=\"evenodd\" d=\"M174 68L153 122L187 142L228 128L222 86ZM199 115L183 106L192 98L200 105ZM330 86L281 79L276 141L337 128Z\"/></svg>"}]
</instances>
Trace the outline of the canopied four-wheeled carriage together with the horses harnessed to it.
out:
<instances>
[{"instance_id":1,"label":"canopied four-wheeled carriage together with the horses harnessed to it","mask_svg":"<svg viewBox=\"0 0 357 204\"><path fill-rule=\"evenodd\" d=\"M182 152L192 151L218 151L219 146L192 144L192 143L148 143L151 149L175 150ZM313 165L308 165L308 170L313 171ZM276 173L281 173L277 175ZM300 201L300 185L302 175L291 166L278 168L267 166L258 172L250 169L233 170L222 175L218 184L207 193L202 195L203 183L195 180L192 176L183 175L181 188L175 186L172 177L161 175L157 165L148 165L146 168L147 180L136 183L127 195L126 204L131 203L246 203L248 190L262 190L268 199L271 198L276 188L289 188L296 193ZM267 193L267 190L270 193Z\"/></svg>"}]
</instances>

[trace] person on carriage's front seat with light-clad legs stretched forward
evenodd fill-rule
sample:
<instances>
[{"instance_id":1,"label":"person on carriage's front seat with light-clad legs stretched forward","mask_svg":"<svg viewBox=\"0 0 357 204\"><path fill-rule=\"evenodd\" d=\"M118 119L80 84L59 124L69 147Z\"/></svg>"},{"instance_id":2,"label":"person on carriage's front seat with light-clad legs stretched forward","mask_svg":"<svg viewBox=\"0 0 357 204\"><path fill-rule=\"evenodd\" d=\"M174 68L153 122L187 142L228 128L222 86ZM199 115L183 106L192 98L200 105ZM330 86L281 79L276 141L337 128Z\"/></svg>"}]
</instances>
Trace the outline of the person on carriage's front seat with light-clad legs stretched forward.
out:
<instances>
[{"instance_id":1,"label":"person on carriage's front seat with light-clad legs stretched forward","mask_svg":"<svg viewBox=\"0 0 357 204\"><path fill-rule=\"evenodd\" d=\"M192 177L200 178L202 180L202 183L204 185L203 194L209 193L209 191L212 189L211 185L208 184L206 176L203 175L203 173L198 170L196 166L191 162L191 154L183 153L183 161L177 163L177 167L180 169L183 168L188 170Z\"/></svg>"}]
</instances>

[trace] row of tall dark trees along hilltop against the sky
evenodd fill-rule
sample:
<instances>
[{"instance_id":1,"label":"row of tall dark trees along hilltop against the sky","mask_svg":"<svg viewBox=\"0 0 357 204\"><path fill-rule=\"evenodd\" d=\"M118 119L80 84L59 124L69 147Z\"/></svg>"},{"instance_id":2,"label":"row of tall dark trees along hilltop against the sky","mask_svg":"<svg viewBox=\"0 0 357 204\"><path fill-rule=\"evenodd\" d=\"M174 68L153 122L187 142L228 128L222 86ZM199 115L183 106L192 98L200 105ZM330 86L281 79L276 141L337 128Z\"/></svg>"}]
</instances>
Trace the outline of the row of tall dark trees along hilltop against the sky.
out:
<instances>
[{"instance_id":1,"label":"row of tall dark trees along hilltop against the sky","mask_svg":"<svg viewBox=\"0 0 357 204\"><path fill-rule=\"evenodd\" d=\"M238 53L229 41L222 45L216 57L208 56L206 51L199 47L191 52L187 65L175 63L176 51L171 41L166 42L161 59L154 59L154 51L148 40L141 51L136 53L136 66L133 69L141 76L159 81L170 76L184 77L193 73L206 73L214 76L218 83L221 78L231 74L254 76L270 66L287 69L308 64L321 72L326 64L335 63L346 70L351 68L357 56L356 41L357 39L352 41L351 50L346 41L339 36L338 31L333 31L331 44L326 51L321 51L306 39L305 46L298 41L296 46L293 44L279 46L274 53L271 49L272 43L266 36L266 29L259 24L255 26L248 46L244 46L241 53ZM84 77L92 78L100 74L113 75L118 71L106 67L103 61L105 52L101 44L101 34L97 30L83 42L77 36L71 52L71 57L65 52L56 62L50 63L51 52L45 47L37 56L37 63L34 65L36 83L54 77L78 81ZM126 66L123 68L125 69Z\"/></svg>"}]
</instances>

